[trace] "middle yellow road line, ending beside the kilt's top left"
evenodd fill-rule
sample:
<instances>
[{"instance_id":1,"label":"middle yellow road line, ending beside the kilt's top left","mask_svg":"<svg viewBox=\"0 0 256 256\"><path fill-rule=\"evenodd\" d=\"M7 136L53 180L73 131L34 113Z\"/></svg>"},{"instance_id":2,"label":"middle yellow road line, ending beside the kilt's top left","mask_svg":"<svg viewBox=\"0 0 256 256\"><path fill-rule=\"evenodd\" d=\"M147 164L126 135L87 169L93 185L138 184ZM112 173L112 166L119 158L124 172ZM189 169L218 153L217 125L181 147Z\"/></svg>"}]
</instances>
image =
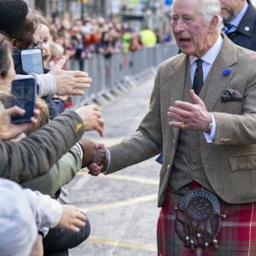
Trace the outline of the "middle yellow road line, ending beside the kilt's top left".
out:
<instances>
[{"instance_id":1,"label":"middle yellow road line, ending beside the kilt's top left","mask_svg":"<svg viewBox=\"0 0 256 256\"><path fill-rule=\"evenodd\" d=\"M94 212L104 209L109 209L113 207L124 207L124 206L130 206L131 204L137 204L138 202L145 202L145 201L153 201L157 199L157 195L145 195L140 196L137 198L131 198L124 201L114 201L108 204L102 204L102 205L96 205L93 207L79 207L83 212Z\"/></svg>"}]
</instances>

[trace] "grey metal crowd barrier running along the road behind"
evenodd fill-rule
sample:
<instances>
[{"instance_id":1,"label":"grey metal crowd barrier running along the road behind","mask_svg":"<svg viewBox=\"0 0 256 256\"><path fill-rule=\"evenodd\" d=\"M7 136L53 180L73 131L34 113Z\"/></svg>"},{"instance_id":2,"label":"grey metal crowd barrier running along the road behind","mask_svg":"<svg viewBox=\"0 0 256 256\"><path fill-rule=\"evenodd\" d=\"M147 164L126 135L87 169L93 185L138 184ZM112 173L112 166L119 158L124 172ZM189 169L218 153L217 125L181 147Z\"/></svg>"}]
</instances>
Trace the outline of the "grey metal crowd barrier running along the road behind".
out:
<instances>
[{"instance_id":1,"label":"grey metal crowd barrier running along the road behind","mask_svg":"<svg viewBox=\"0 0 256 256\"><path fill-rule=\"evenodd\" d=\"M174 43L156 44L135 52L115 53L107 59L101 54L93 54L83 62L68 61L67 69L83 70L92 79L84 96L73 96L73 108L90 103L104 105L112 101L138 81L154 76L160 62L177 55L177 52L177 45Z\"/></svg>"}]
</instances>

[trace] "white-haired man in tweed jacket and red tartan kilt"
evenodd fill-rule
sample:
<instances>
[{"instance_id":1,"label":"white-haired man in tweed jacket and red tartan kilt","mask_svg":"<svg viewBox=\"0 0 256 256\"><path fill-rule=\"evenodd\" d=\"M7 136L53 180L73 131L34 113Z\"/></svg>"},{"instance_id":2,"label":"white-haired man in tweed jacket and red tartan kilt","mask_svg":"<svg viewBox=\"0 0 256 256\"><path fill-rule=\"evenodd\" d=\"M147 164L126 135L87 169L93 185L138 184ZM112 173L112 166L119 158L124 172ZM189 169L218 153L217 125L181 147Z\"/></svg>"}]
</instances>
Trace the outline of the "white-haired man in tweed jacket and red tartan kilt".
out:
<instances>
[{"instance_id":1,"label":"white-haired man in tweed jacket and red tartan kilt","mask_svg":"<svg viewBox=\"0 0 256 256\"><path fill-rule=\"evenodd\" d=\"M222 27L219 0L174 0L182 53L160 65L137 131L90 166L108 174L163 152L159 256L256 255L256 53Z\"/></svg>"}]
</instances>

